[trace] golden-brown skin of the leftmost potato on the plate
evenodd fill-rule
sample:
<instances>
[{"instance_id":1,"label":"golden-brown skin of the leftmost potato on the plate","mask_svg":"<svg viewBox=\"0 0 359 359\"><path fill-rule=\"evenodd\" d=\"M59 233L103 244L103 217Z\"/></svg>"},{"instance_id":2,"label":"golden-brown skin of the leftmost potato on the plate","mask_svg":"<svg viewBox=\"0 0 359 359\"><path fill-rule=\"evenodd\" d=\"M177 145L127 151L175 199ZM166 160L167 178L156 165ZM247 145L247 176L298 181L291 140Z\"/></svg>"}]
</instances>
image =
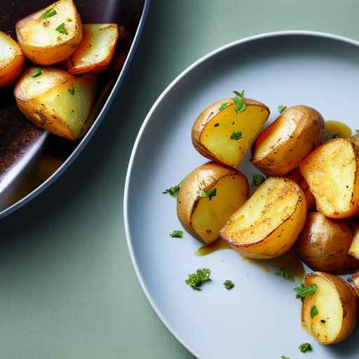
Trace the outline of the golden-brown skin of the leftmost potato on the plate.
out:
<instances>
[{"instance_id":1,"label":"golden-brown skin of the leftmost potato on the plate","mask_svg":"<svg viewBox=\"0 0 359 359\"><path fill-rule=\"evenodd\" d=\"M196 209L199 194L201 191L212 186L212 184L215 184L222 177L229 175L241 175L245 178L243 173L236 170L236 168L219 165L218 163L210 161L189 173L179 189L179 195L177 197L177 216L179 222L181 222L187 232L191 233L191 235L199 241L203 242L203 239L196 233L191 224L191 216Z\"/></svg>"}]
</instances>

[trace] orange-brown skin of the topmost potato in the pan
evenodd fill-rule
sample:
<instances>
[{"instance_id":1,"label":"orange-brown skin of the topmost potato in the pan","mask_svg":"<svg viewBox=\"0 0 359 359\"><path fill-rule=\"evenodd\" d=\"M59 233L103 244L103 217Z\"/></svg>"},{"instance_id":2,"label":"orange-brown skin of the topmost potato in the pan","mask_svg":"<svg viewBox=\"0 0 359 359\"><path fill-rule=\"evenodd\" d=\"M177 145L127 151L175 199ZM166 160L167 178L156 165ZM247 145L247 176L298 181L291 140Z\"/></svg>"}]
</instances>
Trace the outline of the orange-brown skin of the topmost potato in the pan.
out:
<instances>
[{"instance_id":1,"label":"orange-brown skin of the topmost potato in the pan","mask_svg":"<svg viewBox=\"0 0 359 359\"><path fill-rule=\"evenodd\" d=\"M72 2L72 6L74 6L73 2ZM22 36L20 34L20 28L25 26L28 22L32 21L34 18L36 18L36 16L38 15L37 12L16 22L15 29L16 29L16 35L18 37L19 46L22 52L25 54L25 56L29 58L29 60L32 60L32 62L39 65L53 65L62 60L66 60L67 57L69 57L69 55L71 55L74 52L74 50L76 50L76 47L79 45L82 39L82 22L79 13L76 11L75 6L74 8L75 8L75 18L73 21L76 22L77 24L75 35L72 36L72 38L70 38L68 41L55 44L54 46L46 46L46 47L32 46L22 40Z\"/></svg>"}]
</instances>

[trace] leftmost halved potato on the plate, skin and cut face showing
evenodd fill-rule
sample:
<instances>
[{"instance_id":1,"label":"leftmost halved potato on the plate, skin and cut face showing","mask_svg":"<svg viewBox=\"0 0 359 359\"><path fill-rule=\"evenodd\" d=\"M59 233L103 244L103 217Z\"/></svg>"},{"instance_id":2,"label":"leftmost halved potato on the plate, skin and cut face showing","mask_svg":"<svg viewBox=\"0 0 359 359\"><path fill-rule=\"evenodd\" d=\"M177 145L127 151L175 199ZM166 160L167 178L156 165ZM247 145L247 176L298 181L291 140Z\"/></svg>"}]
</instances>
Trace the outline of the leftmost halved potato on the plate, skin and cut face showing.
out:
<instances>
[{"instance_id":1,"label":"leftmost halved potato on the plate, skin and cut face showing","mask_svg":"<svg viewBox=\"0 0 359 359\"><path fill-rule=\"evenodd\" d=\"M210 244L247 198L245 175L235 168L208 162L193 170L182 182L177 215L184 229Z\"/></svg>"}]
</instances>

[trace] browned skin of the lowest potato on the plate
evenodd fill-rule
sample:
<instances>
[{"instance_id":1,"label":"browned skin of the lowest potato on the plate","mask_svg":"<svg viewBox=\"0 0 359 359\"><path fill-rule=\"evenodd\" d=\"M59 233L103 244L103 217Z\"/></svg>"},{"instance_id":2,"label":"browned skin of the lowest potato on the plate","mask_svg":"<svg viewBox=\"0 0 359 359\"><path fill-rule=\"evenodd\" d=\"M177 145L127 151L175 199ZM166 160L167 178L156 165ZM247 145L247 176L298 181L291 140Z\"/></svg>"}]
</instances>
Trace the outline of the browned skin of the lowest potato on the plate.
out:
<instances>
[{"instance_id":1,"label":"browned skin of the lowest potato on the plate","mask_svg":"<svg viewBox=\"0 0 359 359\"><path fill-rule=\"evenodd\" d=\"M357 318L357 302L356 302L356 294L353 288L346 283L345 280L340 277L334 276L333 274L325 273L322 271L316 271L313 273L309 273L304 278L304 285L310 285L311 277L313 276L321 276L325 280L329 281L332 286L335 287L335 290L339 294L341 299L341 304L343 306L343 322L341 324L341 330L337 335L337 338L334 341L330 342L320 342L320 344L328 345L339 343L340 341L344 341L355 329L356 326L356 318ZM309 327L309 323L311 320L311 296L305 297L302 304L302 323ZM316 338L317 339L317 338Z\"/></svg>"}]
</instances>

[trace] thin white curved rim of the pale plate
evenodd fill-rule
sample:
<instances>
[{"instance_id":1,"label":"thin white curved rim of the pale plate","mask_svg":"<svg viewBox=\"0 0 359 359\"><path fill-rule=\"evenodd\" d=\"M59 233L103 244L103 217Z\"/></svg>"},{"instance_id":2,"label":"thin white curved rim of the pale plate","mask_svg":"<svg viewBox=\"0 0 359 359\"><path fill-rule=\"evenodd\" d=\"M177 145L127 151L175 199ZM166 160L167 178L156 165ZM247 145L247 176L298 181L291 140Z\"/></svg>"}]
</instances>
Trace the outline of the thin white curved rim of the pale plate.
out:
<instances>
[{"instance_id":1,"label":"thin white curved rim of the pale plate","mask_svg":"<svg viewBox=\"0 0 359 359\"><path fill-rule=\"evenodd\" d=\"M147 124L149 123L151 116L154 114L154 111L156 111L159 104L161 104L163 98L170 93L172 88L174 88L179 81L181 81L184 76L186 76L189 72L191 72L193 69L201 65L206 60L210 59L210 57L213 57L217 55L218 53L222 53L225 50L228 50L230 48L234 48L236 46L242 45L243 43L248 43L251 41L257 41L259 39L266 39L266 38L273 38L273 37L279 37L279 36L313 36L323 39L332 39L341 41L344 43L349 43L353 46L359 47L359 41L350 39L346 36L340 36L335 34L330 34L328 32L316 32L316 31L309 31L309 30L285 30L285 31L277 31L277 32L264 32L262 34L247 36L243 39L231 41L230 43L226 43L224 46L220 46L219 48L216 48L215 50L210 51L210 53L207 53L206 55L203 55L203 57L200 57L198 60L193 62L189 67L184 69L180 74L178 74L175 79L173 79L170 84L163 90L161 95L158 96L157 100L154 102L154 104L151 106L151 109L149 109L149 112L147 113L147 116L144 118L144 121L142 122L142 125L140 127L140 130L137 133L136 140L133 144L133 149L131 151L130 155L130 161L128 162L128 168L126 172L126 181L125 181L125 187L123 191L123 222L125 227L125 234L126 234L126 243L128 246L128 252L130 254L130 259L133 265L133 268L135 269L135 274L137 277L137 280L140 283L140 286L142 288L142 291L146 295L147 301L149 304L151 304L152 309L158 316L158 318L161 319L162 323L167 327L167 329L170 331L170 333L179 341L184 348L187 348L187 350L194 355L196 358L201 358L200 355L194 350L194 348L189 345L187 341L185 341L178 333L177 331L170 325L161 312L161 310L158 308L156 303L154 302L154 299L152 298L151 294L149 293L149 290L147 288L146 283L144 282L144 279L142 278L142 275L140 273L140 269L137 263L137 259L135 257L135 252L133 250L133 239L130 236L130 224L128 221L128 196L129 196L129 186L130 186L130 179L133 172L133 163L135 161L135 156L137 154L137 149L139 147L140 141L142 139L142 135L144 133L145 128L147 127Z\"/></svg>"}]
</instances>

